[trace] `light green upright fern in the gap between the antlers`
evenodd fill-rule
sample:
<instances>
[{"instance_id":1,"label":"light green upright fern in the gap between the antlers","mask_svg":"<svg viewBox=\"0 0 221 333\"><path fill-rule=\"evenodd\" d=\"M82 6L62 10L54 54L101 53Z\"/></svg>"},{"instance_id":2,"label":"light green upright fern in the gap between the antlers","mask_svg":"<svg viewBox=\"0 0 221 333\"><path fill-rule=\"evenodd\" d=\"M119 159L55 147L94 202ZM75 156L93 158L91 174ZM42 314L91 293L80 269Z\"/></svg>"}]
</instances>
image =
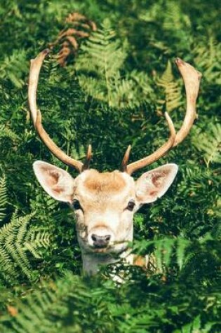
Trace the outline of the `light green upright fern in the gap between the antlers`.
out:
<instances>
[{"instance_id":1,"label":"light green upright fern in the gap between the antlers","mask_svg":"<svg viewBox=\"0 0 221 333\"><path fill-rule=\"evenodd\" d=\"M107 102L109 107L140 105L152 92L149 77L133 71L125 74L126 43L121 47L116 34L105 20L94 32L76 61L79 83L87 95Z\"/></svg>"}]
</instances>

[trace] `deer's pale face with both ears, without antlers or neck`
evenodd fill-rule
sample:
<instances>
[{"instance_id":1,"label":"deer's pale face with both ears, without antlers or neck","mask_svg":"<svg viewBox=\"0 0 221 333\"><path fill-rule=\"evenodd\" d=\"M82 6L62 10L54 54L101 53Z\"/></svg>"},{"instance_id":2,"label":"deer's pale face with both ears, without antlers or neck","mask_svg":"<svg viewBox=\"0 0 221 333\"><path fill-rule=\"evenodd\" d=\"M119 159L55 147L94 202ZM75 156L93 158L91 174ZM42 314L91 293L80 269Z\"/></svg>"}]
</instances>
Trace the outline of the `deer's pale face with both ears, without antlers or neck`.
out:
<instances>
[{"instance_id":1,"label":"deer's pale face with both ears, without antlers or neck","mask_svg":"<svg viewBox=\"0 0 221 333\"><path fill-rule=\"evenodd\" d=\"M75 179L54 165L36 161L34 172L45 191L74 209L83 252L119 253L133 240L133 215L163 196L177 173L175 164L145 172L137 181L126 172L86 170Z\"/></svg>"}]
</instances>

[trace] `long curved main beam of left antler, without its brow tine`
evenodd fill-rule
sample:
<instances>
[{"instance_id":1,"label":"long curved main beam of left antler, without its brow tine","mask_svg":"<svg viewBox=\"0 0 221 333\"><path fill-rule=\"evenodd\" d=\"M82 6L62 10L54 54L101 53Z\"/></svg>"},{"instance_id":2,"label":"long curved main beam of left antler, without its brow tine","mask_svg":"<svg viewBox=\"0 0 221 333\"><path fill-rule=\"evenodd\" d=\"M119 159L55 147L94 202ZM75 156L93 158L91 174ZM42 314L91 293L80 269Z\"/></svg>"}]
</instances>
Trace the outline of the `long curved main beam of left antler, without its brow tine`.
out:
<instances>
[{"instance_id":1,"label":"long curved main beam of left antler, without its brow tine","mask_svg":"<svg viewBox=\"0 0 221 333\"><path fill-rule=\"evenodd\" d=\"M48 136L48 134L43 128L43 125L41 124L41 112L36 106L36 90L39 81L39 73L43 60L45 59L46 55L48 55L48 53L49 50L43 50L35 59L31 60L28 100L29 108L32 114L32 121L41 141L46 145L46 147L48 147L51 153L55 155L58 159L60 159L60 161L62 161L63 163L71 166L72 168L76 168L76 170L81 172L83 168L83 163L67 156L67 154L65 154Z\"/></svg>"}]
</instances>

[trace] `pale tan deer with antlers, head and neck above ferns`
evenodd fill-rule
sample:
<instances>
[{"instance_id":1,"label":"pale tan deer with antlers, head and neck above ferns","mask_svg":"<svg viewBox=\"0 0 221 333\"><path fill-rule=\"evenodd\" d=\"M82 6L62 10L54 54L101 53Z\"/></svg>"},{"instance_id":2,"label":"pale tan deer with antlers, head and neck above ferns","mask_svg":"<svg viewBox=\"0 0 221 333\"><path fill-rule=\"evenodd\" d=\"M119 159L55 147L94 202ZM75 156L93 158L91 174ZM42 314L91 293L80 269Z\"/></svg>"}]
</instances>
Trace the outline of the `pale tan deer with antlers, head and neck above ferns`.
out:
<instances>
[{"instance_id":1,"label":"pale tan deer with antlers, head and neck above ferns","mask_svg":"<svg viewBox=\"0 0 221 333\"><path fill-rule=\"evenodd\" d=\"M180 130L176 132L168 113L165 113L170 135L168 140L149 156L128 163L129 145L121 162L121 170L100 172L89 168L92 149L88 146L84 162L62 151L49 137L41 122L41 111L36 104L36 90L43 60L49 50L43 50L30 62L28 100L34 128L39 138L62 163L74 168L79 175L73 178L69 172L44 161L33 163L36 179L44 191L56 201L67 203L76 220L76 234L81 249L83 272L97 273L102 265L126 260L133 264L133 254L128 242L133 241L133 215L142 205L154 203L173 183L178 165L168 163L143 173L138 179L133 173L165 156L189 134L196 114L201 73L191 64L176 58L175 64L182 76L186 90L186 112ZM129 252L128 252L129 251Z\"/></svg>"}]
</instances>

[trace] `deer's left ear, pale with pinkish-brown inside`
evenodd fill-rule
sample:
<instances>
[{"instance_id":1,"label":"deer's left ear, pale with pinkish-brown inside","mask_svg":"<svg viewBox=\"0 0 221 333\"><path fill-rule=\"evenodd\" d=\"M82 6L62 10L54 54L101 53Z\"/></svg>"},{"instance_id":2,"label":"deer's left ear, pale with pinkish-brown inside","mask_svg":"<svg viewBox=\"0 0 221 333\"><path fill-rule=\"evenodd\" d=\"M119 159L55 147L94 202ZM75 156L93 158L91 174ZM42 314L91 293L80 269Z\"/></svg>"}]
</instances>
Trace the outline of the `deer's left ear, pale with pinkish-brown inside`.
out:
<instances>
[{"instance_id":1,"label":"deer's left ear, pale with pinkish-brown inside","mask_svg":"<svg viewBox=\"0 0 221 333\"><path fill-rule=\"evenodd\" d=\"M33 168L36 178L49 196L72 203L74 178L68 172L43 161L34 162Z\"/></svg>"}]
</instances>

